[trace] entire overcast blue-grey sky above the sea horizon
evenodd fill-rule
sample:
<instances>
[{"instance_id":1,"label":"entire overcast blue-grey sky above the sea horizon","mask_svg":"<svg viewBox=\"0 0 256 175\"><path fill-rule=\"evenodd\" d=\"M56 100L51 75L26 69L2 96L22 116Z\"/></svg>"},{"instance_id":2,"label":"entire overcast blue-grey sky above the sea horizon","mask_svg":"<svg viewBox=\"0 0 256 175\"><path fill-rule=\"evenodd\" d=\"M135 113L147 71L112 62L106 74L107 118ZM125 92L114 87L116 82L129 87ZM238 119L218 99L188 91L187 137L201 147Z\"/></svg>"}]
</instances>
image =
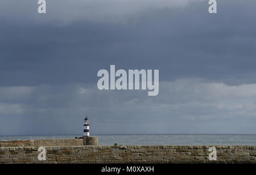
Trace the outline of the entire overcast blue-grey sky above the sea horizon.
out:
<instances>
[{"instance_id":1,"label":"entire overcast blue-grey sky above the sea horizon","mask_svg":"<svg viewBox=\"0 0 256 175\"><path fill-rule=\"evenodd\" d=\"M0 5L0 135L256 134L256 1ZM100 91L97 71L159 69L159 95Z\"/></svg>"}]
</instances>

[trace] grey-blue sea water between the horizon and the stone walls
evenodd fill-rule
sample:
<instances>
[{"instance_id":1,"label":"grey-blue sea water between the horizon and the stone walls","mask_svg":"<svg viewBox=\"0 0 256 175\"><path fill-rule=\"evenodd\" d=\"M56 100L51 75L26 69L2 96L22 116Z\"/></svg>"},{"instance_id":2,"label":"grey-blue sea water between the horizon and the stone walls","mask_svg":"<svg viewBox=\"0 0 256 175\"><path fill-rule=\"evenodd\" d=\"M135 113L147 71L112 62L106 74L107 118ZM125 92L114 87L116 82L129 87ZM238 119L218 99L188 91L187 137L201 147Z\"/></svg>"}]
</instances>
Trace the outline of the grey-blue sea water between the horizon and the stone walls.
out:
<instances>
[{"instance_id":1,"label":"grey-blue sea water between the horizon and the stone walls","mask_svg":"<svg viewBox=\"0 0 256 175\"><path fill-rule=\"evenodd\" d=\"M69 139L79 135L47 135L47 136L0 136L0 140L22 139ZM118 144L169 144L169 145L256 145L254 135L199 135L199 134L163 134L163 135L92 135L98 136L101 145Z\"/></svg>"}]
</instances>

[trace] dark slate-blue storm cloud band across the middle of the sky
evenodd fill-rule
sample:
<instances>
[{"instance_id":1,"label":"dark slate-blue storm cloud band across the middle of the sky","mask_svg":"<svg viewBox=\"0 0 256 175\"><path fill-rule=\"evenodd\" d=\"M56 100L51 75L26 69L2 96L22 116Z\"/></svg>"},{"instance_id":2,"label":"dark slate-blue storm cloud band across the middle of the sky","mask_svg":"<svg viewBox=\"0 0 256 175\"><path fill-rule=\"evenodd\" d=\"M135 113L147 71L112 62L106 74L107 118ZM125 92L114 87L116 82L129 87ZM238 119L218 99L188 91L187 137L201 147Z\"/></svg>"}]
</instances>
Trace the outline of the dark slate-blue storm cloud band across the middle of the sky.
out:
<instances>
[{"instance_id":1,"label":"dark slate-blue storm cloud band across the middle of the sky","mask_svg":"<svg viewBox=\"0 0 256 175\"><path fill-rule=\"evenodd\" d=\"M43 15L12 23L2 17L1 83L95 83L97 70L109 69L110 64L159 69L160 80L200 77L254 83L253 5L254 1L220 1L214 15L208 14L205 2L144 10L124 19L124 24L34 22Z\"/></svg>"}]
</instances>

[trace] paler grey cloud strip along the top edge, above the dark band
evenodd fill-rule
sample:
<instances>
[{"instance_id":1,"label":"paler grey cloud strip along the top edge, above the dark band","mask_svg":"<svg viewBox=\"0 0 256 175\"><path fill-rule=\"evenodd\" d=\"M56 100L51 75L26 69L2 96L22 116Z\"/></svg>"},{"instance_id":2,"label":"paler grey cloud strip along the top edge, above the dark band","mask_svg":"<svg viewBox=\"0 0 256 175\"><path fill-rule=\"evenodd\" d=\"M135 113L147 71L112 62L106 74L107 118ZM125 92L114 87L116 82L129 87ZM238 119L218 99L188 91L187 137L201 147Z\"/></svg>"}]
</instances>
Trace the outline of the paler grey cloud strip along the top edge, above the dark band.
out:
<instances>
[{"instance_id":1,"label":"paler grey cloud strip along the top edge, above the dark band","mask_svg":"<svg viewBox=\"0 0 256 175\"><path fill-rule=\"evenodd\" d=\"M87 20L91 22L114 22L126 23L127 19L133 18L145 10L158 10L162 8L181 8L190 3L203 2L204 0L59 0L46 1L47 14L37 13L38 1L3 0L0 7L0 14L6 19L32 20L35 23L47 23L53 21L59 25ZM205 3L207 3L205 1ZM17 6L19 5L19 6ZM10 8L12 9L10 11ZM1 16L2 16L1 15Z\"/></svg>"}]
</instances>

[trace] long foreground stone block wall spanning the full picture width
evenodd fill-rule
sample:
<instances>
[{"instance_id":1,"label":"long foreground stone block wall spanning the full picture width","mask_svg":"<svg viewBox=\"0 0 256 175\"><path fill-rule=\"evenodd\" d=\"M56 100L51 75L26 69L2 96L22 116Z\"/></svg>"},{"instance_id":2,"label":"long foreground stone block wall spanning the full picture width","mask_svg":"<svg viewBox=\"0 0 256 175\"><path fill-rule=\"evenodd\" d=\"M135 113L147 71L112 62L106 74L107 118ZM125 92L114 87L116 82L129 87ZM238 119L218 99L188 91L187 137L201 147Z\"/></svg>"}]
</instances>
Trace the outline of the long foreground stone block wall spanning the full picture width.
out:
<instances>
[{"instance_id":1,"label":"long foreground stone block wall spanning the full picture width","mask_svg":"<svg viewBox=\"0 0 256 175\"><path fill-rule=\"evenodd\" d=\"M45 146L46 160L38 160L38 146L1 146L0 163L256 163L256 146L214 146L217 160L209 160L212 146Z\"/></svg>"}]
</instances>

